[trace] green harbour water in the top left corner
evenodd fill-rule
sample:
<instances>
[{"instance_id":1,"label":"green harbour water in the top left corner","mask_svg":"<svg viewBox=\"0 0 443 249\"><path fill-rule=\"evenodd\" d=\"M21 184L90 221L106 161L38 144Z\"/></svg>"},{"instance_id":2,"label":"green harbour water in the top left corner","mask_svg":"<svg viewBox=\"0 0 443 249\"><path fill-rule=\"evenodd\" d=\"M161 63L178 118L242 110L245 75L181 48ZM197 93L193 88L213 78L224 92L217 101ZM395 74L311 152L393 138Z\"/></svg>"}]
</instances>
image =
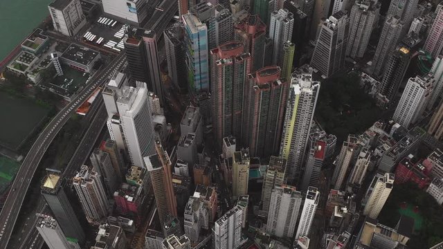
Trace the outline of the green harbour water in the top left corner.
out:
<instances>
[{"instance_id":1,"label":"green harbour water in the top left corner","mask_svg":"<svg viewBox=\"0 0 443 249\"><path fill-rule=\"evenodd\" d=\"M0 61L48 15L52 0L0 0Z\"/></svg>"}]
</instances>

